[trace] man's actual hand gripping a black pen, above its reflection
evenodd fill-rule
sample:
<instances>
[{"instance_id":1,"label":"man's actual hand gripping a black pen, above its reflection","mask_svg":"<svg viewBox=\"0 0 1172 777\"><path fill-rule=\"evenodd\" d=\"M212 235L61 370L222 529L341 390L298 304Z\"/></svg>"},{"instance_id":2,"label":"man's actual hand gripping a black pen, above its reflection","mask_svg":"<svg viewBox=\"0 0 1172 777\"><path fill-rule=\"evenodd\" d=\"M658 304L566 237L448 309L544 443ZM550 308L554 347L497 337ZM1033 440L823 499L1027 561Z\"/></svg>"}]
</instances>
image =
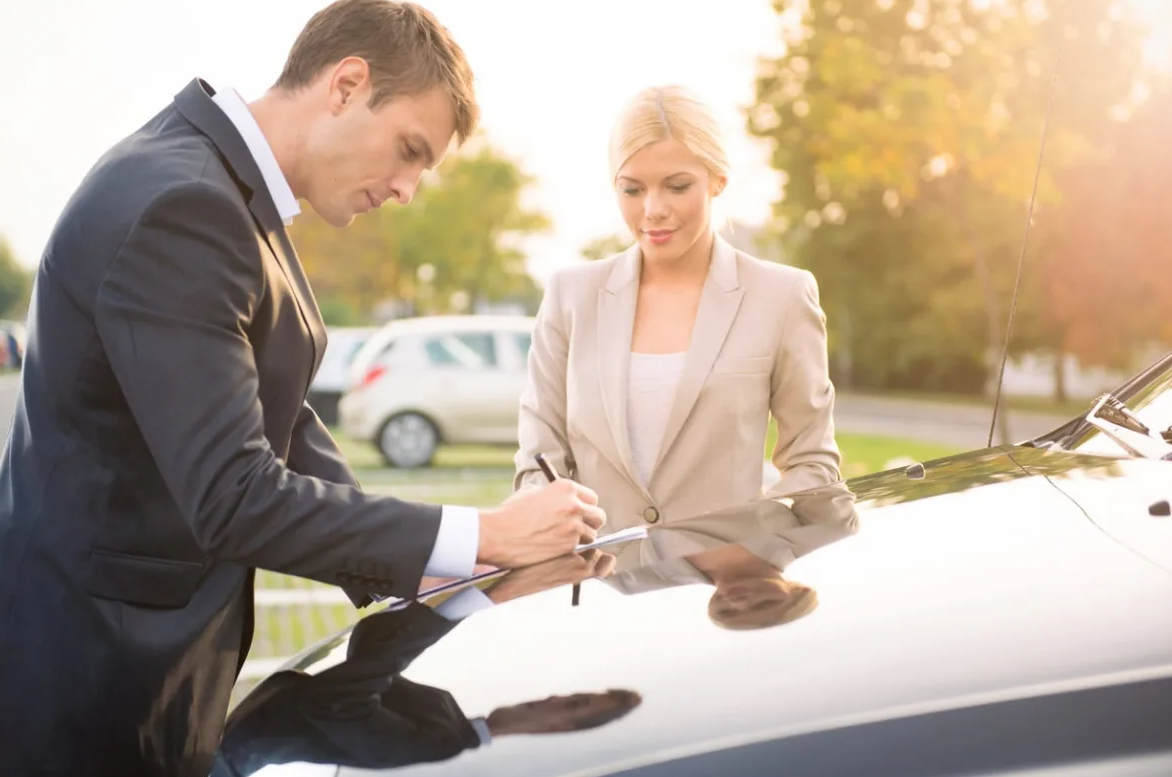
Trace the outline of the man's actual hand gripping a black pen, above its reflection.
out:
<instances>
[{"instance_id":1,"label":"man's actual hand gripping a black pen, above its reflection","mask_svg":"<svg viewBox=\"0 0 1172 777\"><path fill-rule=\"evenodd\" d=\"M570 553L593 543L606 523L598 495L561 478L540 489L524 489L496 510L481 511L476 560L517 568Z\"/></svg>"}]
</instances>

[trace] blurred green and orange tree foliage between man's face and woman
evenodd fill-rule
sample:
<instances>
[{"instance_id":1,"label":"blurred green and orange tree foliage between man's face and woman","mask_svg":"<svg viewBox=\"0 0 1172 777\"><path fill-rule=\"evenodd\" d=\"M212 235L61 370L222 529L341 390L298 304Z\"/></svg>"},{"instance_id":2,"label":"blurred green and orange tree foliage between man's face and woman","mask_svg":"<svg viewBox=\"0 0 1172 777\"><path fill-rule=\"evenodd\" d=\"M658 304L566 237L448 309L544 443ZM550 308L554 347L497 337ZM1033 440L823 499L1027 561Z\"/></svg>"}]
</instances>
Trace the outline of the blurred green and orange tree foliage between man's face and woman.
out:
<instances>
[{"instance_id":1,"label":"blurred green and orange tree foliage between man's face and woman","mask_svg":"<svg viewBox=\"0 0 1172 777\"><path fill-rule=\"evenodd\" d=\"M319 298L336 315L404 300L416 313L527 299L520 238L548 229L522 204L532 179L477 138L421 182L409 207L386 206L334 230L313 213L291 229Z\"/></svg>"}]
</instances>

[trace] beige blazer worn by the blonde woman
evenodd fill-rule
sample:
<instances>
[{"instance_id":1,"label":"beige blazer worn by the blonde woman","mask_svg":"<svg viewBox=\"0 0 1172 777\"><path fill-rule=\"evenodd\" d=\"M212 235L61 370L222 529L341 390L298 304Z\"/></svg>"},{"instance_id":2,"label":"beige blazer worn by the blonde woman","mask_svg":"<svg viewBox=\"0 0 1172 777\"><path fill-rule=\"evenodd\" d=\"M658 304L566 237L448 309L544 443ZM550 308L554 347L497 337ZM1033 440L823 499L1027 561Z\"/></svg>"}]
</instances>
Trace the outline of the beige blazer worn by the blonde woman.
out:
<instances>
[{"instance_id":1,"label":"beige blazer worn by the blonde woman","mask_svg":"<svg viewBox=\"0 0 1172 777\"><path fill-rule=\"evenodd\" d=\"M676 522L762 493L765 432L778 422L772 492L839 478L825 315L809 272L716 238L683 375L645 488L627 431L627 364L642 254L557 272L546 286L520 401L515 488L545 483L534 455L590 486L605 532Z\"/></svg>"}]
</instances>

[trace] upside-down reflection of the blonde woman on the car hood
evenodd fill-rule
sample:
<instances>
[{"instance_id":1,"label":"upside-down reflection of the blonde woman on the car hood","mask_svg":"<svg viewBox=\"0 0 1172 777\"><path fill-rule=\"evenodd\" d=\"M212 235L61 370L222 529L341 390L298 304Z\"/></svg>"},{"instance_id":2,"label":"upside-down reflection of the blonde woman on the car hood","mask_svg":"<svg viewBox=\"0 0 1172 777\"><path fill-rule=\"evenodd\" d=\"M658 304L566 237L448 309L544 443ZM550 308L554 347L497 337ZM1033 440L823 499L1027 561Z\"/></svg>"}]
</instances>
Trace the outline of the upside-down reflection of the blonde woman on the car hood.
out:
<instances>
[{"instance_id":1,"label":"upside-down reflection of the blonde woman on the car hood","mask_svg":"<svg viewBox=\"0 0 1172 777\"><path fill-rule=\"evenodd\" d=\"M708 615L724 628L777 626L811 612L817 593L782 573L797 558L858 530L854 495L836 484L706 513L648 531L604 582L626 593L715 587Z\"/></svg>"}]
</instances>

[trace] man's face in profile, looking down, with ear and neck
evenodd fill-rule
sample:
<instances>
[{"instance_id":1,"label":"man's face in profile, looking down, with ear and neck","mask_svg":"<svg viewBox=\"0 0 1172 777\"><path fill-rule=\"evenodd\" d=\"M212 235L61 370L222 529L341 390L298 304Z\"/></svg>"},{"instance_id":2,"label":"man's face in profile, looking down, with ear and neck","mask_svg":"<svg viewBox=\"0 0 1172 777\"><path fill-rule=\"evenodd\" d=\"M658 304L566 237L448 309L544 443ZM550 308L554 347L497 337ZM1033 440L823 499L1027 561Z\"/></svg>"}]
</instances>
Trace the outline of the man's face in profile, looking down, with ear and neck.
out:
<instances>
[{"instance_id":1,"label":"man's face in profile, looking down, with ear and neck","mask_svg":"<svg viewBox=\"0 0 1172 777\"><path fill-rule=\"evenodd\" d=\"M370 109L366 63L329 82L327 110L306 137L302 196L327 223L347 226L387 200L411 202L424 170L443 159L456 114L436 88ZM346 62L342 63L346 66Z\"/></svg>"}]
</instances>

